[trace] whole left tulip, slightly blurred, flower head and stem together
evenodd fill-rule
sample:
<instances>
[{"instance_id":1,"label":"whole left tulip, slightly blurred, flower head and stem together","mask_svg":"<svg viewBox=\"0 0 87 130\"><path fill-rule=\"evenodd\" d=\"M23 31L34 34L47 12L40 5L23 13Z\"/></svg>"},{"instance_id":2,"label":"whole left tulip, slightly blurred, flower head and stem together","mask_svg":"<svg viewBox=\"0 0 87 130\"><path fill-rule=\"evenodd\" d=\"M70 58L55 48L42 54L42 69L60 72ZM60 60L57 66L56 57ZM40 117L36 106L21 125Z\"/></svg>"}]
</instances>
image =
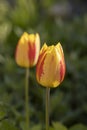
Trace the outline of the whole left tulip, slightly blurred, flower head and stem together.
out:
<instances>
[{"instance_id":1,"label":"whole left tulip, slightly blurred, flower head and stem together","mask_svg":"<svg viewBox=\"0 0 87 130\"><path fill-rule=\"evenodd\" d=\"M21 36L17 48L15 59L16 63L26 68L25 77L25 111L26 111L26 130L29 130L29 67L36 65L40 51L39 34L28 34Z\"/></svg>"}]
</instances>

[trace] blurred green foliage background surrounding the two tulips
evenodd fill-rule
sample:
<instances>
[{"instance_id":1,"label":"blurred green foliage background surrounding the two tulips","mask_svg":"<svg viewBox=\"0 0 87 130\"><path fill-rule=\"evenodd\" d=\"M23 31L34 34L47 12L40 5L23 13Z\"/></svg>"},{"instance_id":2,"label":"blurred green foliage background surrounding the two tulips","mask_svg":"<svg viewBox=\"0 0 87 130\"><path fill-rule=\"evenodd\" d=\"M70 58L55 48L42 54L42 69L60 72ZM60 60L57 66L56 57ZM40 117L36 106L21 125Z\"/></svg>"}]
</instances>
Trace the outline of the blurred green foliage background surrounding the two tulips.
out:
<instances>
[{"instance_id":1,"label":"blurred green foliage background surrounding the two tulips","mask_svg":"<svg viewBox=\"0 0 87 130\"><path fill-rule=\"evenodd\" d=\"M50 126L60 122L67 128L59 130L87 130L86 0L0 0L0 130L25 130L25 69L15 63L23 32L38 32L41 46L60 41L64 49L66 75L60 87L51 89ZM41 130L45 88L36 81L35 67L29 78L31 127Z\"/></svg>"}]
</instances>

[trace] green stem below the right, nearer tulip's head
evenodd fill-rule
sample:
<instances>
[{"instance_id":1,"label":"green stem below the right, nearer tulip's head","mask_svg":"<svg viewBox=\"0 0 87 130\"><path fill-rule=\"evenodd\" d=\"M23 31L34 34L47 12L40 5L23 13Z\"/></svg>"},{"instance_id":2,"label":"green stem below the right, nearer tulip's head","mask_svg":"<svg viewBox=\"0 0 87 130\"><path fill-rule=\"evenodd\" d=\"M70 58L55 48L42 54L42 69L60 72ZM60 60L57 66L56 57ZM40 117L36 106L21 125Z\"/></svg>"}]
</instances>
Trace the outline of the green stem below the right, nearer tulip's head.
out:
<instances>
[{"instance_id":1,"label":"green stem below the right, nearer tulip's head","mask_svg":"<svg viewBox=\"0 0 87 130\"><path fill-rule=\"evenodd\" d=\"M50 99L50 88L46 88L46 130L49 130L49 99Z\"/></svg>"}]
</instances>

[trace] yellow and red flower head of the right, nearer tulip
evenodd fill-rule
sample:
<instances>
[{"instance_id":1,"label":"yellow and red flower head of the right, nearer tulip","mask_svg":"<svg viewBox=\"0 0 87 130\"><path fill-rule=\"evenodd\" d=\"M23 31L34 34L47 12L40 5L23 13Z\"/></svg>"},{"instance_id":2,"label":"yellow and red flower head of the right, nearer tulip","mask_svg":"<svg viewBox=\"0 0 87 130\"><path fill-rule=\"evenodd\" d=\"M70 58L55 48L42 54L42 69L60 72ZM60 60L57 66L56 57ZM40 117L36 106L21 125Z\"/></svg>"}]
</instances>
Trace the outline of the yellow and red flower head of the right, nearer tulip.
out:
<instances>
[{"instance_id":1,"label":"yellow and red flower head of the right, nearer tulip","mask_svg":"<svg viewBox=\"0 0 87 130\"><path fill-rule=\"evenodd\" d=\"M60 43L43 45L36 66L37 81L45 87L57 87L64 79L65 60Z\"/></svg>"}]
</instances>

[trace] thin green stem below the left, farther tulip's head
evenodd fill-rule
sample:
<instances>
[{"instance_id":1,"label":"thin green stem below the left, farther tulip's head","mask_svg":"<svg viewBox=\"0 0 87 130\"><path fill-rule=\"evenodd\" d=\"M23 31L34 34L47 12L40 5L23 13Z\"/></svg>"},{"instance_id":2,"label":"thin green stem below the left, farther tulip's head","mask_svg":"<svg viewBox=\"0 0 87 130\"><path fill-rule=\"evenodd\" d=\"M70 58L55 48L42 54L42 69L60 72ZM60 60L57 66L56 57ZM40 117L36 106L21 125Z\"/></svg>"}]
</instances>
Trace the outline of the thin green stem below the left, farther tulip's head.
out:
<instances>
[{"instance_id":1,"label":"thin green stem below the left, farther tulip's head","mask_svg":"<svg viewBox=\"0 0 87 130\"><path fill-rule=\"evenodd\" d=\"M26 110L26 130L29 130L29 68L26 68L25 79L25 110Z\"/></svg>"}]
</instances>

